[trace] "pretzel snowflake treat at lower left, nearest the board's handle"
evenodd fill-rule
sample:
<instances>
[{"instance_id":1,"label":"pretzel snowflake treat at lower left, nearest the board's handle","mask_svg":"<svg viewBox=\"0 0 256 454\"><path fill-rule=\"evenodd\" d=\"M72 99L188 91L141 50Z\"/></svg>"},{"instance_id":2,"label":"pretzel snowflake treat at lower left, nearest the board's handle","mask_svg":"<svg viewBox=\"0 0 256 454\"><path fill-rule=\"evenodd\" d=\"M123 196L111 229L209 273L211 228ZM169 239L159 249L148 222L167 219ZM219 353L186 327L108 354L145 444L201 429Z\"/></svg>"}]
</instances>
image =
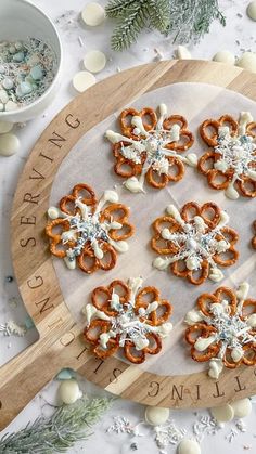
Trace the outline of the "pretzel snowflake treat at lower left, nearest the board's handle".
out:
<instances>
[{"instance_id":1,"label":"pretzel snowflake treat at lower left, nearest the board's handle","mask_svg":"<svg viewBox=\"0 0 256 454\"><path fill-rule=\"evenodd\" d=\"M127 284L113 281L92 291L91 303L84 309L84 336L97 356L108 358L120 348L127 360L140 364L146 354L161 351L162 338L172 328L171 310L157 288L142 288L142 278L130 278Z\"/></svg>"}]
</instances>

